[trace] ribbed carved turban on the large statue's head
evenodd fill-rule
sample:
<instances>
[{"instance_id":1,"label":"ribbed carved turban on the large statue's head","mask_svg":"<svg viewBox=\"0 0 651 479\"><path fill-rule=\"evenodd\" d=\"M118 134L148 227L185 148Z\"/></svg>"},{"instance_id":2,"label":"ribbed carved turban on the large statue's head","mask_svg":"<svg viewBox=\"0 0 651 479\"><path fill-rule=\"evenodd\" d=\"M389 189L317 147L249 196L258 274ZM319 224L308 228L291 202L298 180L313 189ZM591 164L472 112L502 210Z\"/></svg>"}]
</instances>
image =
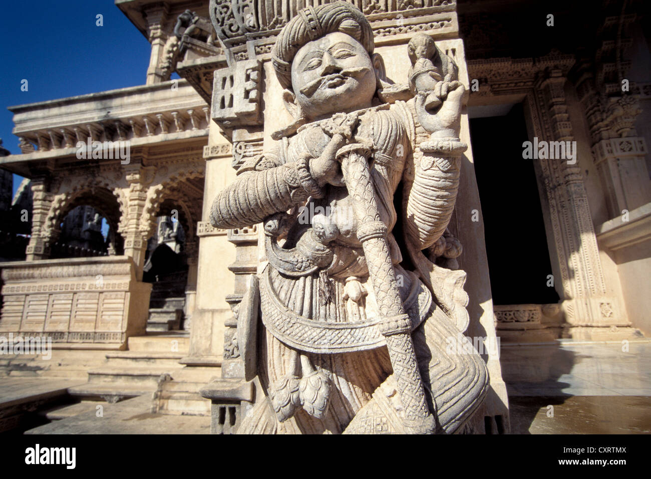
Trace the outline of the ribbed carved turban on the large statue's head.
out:
<instances>
[{"instance_id":1,"label":"ribbed carved turban on the large statue's head","mask_svg":"<svg viewBox=\"0 0 651 479\"><path fill-rule=\"evenodd\" d=\"M373 31L359 8L344 1L307 7L287 23L271 51L271 63L283 88L292 88L292 60L307 42L340 31L352 36L373 53Z\"/></svg>"}]
</instances>

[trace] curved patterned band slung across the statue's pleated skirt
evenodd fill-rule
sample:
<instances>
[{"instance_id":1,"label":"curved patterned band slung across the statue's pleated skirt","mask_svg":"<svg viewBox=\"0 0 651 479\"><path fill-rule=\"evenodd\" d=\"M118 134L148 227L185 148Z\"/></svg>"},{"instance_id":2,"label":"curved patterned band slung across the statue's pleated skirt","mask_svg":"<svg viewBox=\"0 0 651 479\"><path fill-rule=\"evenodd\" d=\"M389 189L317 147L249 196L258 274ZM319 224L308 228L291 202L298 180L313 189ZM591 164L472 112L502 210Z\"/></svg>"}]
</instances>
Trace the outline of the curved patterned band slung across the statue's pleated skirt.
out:
<instances>
[{"instance_id":1,"label":"curved patterned band slung across the statue's pleated skirt","mask_svg":"<svg viewBox=\"0 0 651 479\"><path fill-rule=\"evenodd\" d=\"M289 310L277 297L270 280L271 267L262 272L260 295L262 323L277 338L290 347L309 353L352 353L366 351L386 344L377 325L380 317L364 323L329 323L315 321ZM411 320L413 331L432 308L432 295L414 275L411 291L404 301L404 309Z\"/></svg>"}]
</instances>

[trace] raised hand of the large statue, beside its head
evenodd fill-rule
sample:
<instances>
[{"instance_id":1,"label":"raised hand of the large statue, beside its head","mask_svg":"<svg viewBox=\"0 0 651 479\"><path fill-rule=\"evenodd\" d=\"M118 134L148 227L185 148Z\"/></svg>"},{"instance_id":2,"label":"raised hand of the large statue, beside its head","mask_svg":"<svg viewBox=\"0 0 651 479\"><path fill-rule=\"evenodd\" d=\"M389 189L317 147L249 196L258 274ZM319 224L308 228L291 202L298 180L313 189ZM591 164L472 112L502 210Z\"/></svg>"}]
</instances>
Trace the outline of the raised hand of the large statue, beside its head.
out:
<instances>
[{"instance_id":1,"label":"raised hand of the large statue, beside its head","mask_svg":"<svg viewBox=\"0 0 651 479\"><path fill-rule=\"evenodd\" d=\"M426 96L415 97L418 119L428 132L441 137L458 137L465 87L460 81L440 81L434 92L442 104L432 111Z\"/></svg>"}]
</instances>

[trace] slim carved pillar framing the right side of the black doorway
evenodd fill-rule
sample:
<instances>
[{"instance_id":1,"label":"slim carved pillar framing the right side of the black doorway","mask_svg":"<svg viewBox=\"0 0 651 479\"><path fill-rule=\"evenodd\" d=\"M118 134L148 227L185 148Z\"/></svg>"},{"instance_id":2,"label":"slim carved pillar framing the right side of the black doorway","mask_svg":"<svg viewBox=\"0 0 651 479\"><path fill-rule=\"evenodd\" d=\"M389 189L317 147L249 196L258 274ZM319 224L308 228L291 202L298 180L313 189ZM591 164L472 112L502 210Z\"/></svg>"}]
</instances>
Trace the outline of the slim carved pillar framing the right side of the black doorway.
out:
<instances>
[{"instance_id":1,"label":"slim carved pillar framing the right side of the black doorway","mask_svg":"<svg viewBox=\"0 0 651 479\"><path fill-rule=\"evenodd\" d=\"M574 141L564 94L565 76L550 70L534 85L540 115L536 136L547 141ZM531 97L530 97L531 100ZM602 264L583 176L578 163L539 160L549 201L555 251L561 271L565 319L570 327L628 325L615 298L606 297Z\"/></svg>"}]
</instances>

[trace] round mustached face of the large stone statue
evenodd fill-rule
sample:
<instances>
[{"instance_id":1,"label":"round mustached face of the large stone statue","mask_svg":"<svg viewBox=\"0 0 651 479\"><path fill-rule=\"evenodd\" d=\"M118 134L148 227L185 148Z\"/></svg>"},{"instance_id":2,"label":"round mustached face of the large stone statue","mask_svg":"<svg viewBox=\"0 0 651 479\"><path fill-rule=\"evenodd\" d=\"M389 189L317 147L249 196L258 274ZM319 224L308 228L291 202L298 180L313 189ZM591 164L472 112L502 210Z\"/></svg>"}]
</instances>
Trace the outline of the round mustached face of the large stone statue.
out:
<instances>
[{"instance_id":1,"label":"round mustached face of the large stone statue","mask_svg":"<svg viewBox=\"0 0 651 479\"><path fill-rule=\"evenodd\" d=\"M335 32L303 45L292 62L292 87L307 119L370 106L376 77L364 47Z\"/></svg>"}]
</instances>

